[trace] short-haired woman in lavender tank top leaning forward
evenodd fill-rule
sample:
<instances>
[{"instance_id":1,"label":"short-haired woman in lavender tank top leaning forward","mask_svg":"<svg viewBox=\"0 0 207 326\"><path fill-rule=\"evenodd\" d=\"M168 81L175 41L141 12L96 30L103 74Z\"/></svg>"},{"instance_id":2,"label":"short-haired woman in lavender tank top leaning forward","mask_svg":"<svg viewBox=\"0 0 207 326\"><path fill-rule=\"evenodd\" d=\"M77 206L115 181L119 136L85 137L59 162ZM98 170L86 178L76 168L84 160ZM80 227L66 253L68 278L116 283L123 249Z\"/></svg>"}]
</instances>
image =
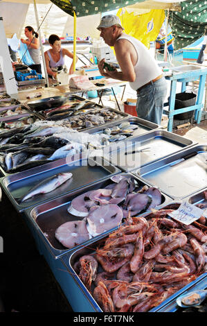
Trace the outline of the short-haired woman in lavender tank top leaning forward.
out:
<instances>
[{"instance_id":1,"label":"short-haired woman in lavender tank top leaning forward","mask_svg":"<svg viewBox=\"0 0 207 326\"><path fill-rule=\"evenodd\" d=\"M44 53L44 58L46 61L46 69L48 72L49 78L56 78L57 71L61 71L64 69L64 55L67 55L69 58L73 59L73 53L71 53L67 49L61 48L61 40L60 37L52 34L48 38L48 42L51 45L52 49L49 49ZM76 57L75 62L78 61L78 57ZM69 74L73 74L73 62L69 69Z\"/></svg>"}]
</instances>

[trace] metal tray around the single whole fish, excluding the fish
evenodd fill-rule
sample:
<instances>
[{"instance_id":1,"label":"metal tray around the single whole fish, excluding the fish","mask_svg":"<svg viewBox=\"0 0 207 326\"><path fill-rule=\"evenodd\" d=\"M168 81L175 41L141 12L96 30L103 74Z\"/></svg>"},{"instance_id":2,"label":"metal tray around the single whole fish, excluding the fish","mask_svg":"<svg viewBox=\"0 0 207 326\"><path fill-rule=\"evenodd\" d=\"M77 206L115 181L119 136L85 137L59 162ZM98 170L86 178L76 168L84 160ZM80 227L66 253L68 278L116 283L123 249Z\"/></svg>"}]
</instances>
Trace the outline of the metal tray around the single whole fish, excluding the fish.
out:
<instances>
[{"instance_id":1,"label":"metal tray around the single whole fish, excluding the fish","mask_svg":"<svg viewBox=\"0 0 207 326\"><path fill-rule=\"evenodd\" d=\"M37 195L21 203L21 199L38 182L42 182L46 178L62 172L73 173L73 178L47 194ZM74 157L67 157L66 159L46 163L24 172L8 175L0 179L0 185L17 211L23 212L28 207L43 203L51 198L62 196L84 185L91 185L97 180L102 180L118 172L120 170L100 157L92 160L90 158L88 159L87 155L84 157L74 155Z\"/></svg>"}]
</instances>

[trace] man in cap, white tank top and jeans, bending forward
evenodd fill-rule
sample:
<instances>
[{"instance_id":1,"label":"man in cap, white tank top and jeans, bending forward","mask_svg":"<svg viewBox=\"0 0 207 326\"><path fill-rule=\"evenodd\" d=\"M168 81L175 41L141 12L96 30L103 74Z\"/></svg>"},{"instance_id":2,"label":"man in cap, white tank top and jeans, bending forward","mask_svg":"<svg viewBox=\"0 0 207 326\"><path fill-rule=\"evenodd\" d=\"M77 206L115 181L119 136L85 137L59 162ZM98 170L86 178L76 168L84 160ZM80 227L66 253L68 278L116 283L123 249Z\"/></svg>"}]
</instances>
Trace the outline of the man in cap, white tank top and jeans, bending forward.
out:
<instances>
[{"instance_id":1,"label":"man in cap, white tank top and jeans, bending forward","mask_svg":"<svg viewBox=\"0 0 207 326\"><path fill-rule=\"evenodd\" d=\"M100 60L98 68L102 76L128 81L137 92L136 112L138 117L161 123L163 103L167 94L167 83L156 60L147 47L136 38L123 33L120 19L116 15L102 17L100 37L109 46L114 46L121 71L113 71Z\"/></svg>"}]
</instances>

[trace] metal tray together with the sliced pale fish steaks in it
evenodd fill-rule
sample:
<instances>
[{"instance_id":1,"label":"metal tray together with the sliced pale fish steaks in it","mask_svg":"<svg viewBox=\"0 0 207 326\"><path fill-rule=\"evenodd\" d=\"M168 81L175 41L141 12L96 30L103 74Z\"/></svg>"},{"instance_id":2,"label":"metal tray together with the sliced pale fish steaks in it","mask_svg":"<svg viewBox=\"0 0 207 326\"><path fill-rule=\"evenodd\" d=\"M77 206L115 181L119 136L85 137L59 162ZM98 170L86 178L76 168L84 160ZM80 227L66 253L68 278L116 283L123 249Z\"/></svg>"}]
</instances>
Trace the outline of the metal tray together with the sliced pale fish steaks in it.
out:
<instances>
[{"instance_id":1,"label":"metal tray together with the sliced pale fish steaks in it","mask_svg":"<svg viewBox=\"0 0 207 326\"><path fill-rule=\"evenodd\" d=\"M132 195L133 203L130 201ZM139 198L142 198L140 205ZM39 235L39 241L48 246L49 252L46 256L49 255L54 260L66 252L88 246L94 237L99 238L102 234L109 233L125 221L131 207L132 215L137 215L150 210L150 207L168 203L169 200L170 198L163 196L159 189L149 187L147 183L141 182L130 173L118 173L98 180L93 185L73 189L69 194L62 194L45 204L30 207L24 214ZM92 206L93 210L90 211ZM105 212L102 212L102 209ZM95 213L96 216L93 216ZM72 228L73 223L78 221L86 225L88 239L80 237L78 240L73 233L71 237L64 239L64 233L66 234L64 228Z\"/></svg>"}]
</instances>

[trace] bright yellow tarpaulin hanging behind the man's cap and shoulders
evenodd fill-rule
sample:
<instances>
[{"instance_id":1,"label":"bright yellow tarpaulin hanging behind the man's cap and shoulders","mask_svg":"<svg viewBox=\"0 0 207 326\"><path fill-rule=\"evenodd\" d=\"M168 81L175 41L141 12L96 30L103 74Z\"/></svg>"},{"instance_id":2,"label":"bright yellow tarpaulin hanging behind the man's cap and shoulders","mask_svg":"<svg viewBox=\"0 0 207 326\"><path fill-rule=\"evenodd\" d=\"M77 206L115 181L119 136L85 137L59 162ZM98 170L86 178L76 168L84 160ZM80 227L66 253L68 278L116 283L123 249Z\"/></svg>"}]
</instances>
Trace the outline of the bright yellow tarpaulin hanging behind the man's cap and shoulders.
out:
<instances>
[{"instance_id":1,"label":"bright yellow tarpaulin hanging behind the man's cap and shoulders","mask_svg":"<svg viewBox=\"0 0 207 326\"><path fill-rule=\"evenodd\" d=\"M147 10L149 11L149 10ZM148 49L150 42L156 40L161 26L165 20L165 10L154 9L150 12L139 14L134 10L122 8L116 14L125 28L125 33L140 40Z\"/></svg>"}]
</instances>

